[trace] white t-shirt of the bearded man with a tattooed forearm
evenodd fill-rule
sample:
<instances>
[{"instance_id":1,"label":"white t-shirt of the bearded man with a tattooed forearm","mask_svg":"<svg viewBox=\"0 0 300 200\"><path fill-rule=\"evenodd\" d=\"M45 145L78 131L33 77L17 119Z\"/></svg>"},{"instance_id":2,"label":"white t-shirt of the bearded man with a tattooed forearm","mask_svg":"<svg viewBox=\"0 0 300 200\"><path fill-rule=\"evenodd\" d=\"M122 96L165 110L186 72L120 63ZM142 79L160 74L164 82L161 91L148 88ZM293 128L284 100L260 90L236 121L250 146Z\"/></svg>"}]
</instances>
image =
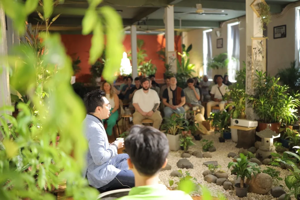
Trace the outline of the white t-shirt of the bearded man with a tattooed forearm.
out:
<instances>
[{"instance_id":1,"label":"white t-shirt of the bearded man with a tattooed forearm","mask_svg":"<svg viewBox=\"0 0 300 200\"><path fill-rule=\"evenodd\" d=\"M139 89L134 93L132 103L137 103L144 112L150 112L160 100L155 90L149 89L148 93L145 93L143 89Z\"/></svg>"}]
</instances>

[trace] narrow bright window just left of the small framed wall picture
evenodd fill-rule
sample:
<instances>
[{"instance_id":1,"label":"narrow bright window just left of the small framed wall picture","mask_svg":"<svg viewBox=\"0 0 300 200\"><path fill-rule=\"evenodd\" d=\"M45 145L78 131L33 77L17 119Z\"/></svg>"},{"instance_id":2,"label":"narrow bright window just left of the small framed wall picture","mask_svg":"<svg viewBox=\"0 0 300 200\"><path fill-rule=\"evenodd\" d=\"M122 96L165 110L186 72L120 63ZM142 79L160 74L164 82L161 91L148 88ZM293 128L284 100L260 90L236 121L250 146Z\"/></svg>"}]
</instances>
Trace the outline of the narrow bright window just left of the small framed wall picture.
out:
<instances>
[{"instance_id":1,"label":"narrow bright window just left of the small framed wall picture","mask_svg":"<svg viewBox=\"0 0 300 200\"><path fill-rule=\"evenodd\" d=\"M207 62L212 58L211 33L212 29L203 31L203 74L209 79L212 78L212 69L207 70Z\"/></svg>"}]
</instances>

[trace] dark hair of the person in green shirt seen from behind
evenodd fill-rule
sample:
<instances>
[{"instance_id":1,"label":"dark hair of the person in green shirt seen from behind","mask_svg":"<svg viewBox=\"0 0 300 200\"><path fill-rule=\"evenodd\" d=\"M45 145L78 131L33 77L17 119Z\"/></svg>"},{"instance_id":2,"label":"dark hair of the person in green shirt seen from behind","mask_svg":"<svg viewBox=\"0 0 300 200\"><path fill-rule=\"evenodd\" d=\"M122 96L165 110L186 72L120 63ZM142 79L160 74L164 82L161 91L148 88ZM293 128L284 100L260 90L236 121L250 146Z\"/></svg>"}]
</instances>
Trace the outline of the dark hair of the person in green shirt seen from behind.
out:
<instances>
[{"instance_id":1,"label":"dark hair of the person in green shirt seen from behind","mask_svg":"<svg viewBox=\"0 0 300 200\"><path fill-rule=\"evenodd\" d=\"M137 171L146 176L155 175L166 162L169 142L161 131L143 125L134 125L125 139L125 148Z\"/></svg>"}]
</instances>

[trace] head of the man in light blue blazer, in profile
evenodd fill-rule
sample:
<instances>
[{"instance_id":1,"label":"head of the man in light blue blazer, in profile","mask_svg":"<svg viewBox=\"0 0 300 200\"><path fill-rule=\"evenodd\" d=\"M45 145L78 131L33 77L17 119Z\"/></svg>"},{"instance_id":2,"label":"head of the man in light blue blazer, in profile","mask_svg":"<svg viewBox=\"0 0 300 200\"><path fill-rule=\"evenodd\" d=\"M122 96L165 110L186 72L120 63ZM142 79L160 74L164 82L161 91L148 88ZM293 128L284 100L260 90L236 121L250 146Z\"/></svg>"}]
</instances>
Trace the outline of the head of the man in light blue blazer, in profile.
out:
<instances>
[{"instance_id":1,"label":"head of the man in light blue blazer, in profile","mask_svg":"<svg viewBox=\"0 0 300 200\"><path fill-rule=\"evenodd\" d=\"M84 104L89 114L99 119L106 119L110 114L110 102L105 97L105 92L97 89L87 93L84 97Z\"/></svg>"}]
</instances>

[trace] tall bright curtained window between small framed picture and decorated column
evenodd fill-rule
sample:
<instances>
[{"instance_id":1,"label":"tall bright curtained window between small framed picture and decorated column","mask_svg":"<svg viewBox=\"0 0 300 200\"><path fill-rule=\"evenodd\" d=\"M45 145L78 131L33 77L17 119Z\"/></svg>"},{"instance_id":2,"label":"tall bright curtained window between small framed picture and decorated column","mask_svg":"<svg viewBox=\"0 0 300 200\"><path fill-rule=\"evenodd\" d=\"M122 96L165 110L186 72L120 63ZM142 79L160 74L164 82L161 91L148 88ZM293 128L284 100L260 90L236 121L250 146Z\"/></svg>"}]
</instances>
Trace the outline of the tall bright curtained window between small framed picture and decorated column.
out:
<instances>
[{"instance_id":1,"label":"tall bright curtained window between small framed picture and decorated column","mask_svg":"<svg viewBox=\"0 0 300 200\"><path fill-rule=\"evenodd\" d=\"M235 82L235 73L240 69L240 30L239 22L228 24L227 30L227 54L229 58L228 64L228 79L230 82Z\"/></svg>"}]
</instances>

